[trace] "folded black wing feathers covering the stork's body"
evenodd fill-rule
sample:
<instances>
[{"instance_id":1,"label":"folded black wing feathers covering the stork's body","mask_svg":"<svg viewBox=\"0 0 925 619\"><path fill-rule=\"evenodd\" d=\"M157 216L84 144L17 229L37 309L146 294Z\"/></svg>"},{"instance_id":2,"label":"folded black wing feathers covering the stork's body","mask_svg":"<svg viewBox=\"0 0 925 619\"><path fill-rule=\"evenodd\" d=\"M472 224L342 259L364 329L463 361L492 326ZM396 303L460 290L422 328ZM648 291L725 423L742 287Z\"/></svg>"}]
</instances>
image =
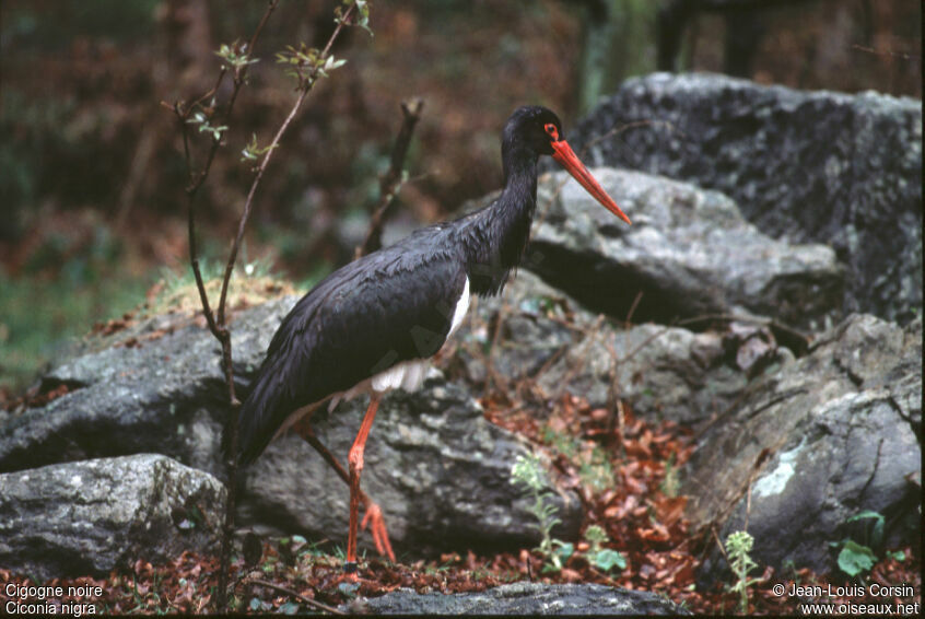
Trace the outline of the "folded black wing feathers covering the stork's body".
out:
<instances>
[{"instance_id":1,"label":"folded black wing feathers covering the stork's body","mask_svg":"<svg viewBox=\"0 0 925 619\"><path fill-rule=\"evenodd\" d=\"M434 354L461 320L455 314L467 288L461 260L407 243L331 273L270 342L238 416L241 463L256 459L296 409Z\"/></svg>"}]
</instances>

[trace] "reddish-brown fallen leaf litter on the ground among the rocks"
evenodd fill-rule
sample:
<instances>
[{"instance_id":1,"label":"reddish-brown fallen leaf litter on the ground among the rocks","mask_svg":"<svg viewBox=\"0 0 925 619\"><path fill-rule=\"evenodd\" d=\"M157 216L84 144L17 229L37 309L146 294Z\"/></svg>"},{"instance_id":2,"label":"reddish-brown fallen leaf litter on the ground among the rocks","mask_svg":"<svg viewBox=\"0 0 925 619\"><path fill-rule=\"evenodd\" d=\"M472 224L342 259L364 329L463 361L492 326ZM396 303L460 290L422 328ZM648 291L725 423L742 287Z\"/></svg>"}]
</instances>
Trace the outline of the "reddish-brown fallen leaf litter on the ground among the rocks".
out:
<instances>
[{"instance_id":1,"label":"reddish-brown fallen leaf litter on the ground among the rocks","mask_svg":"<svg viewBox=\"0 0 925 619\"><path fill-rule=\"evenodd\" d=\"M366 556L360 562L359 581L347 582L342 552L329 550L324 540L309 542L300 536L245 544L233 559L230 609L238 612L316 612L358 597L374 597L399 587L419 593L484 591L516 581L543 583L598 583L629 589L655 592L696 614L730 614L739 609L740 595L729 591L731 582L701 588L695 572L715 541L693 534L683 517L687 502L677 495L678 470L692 452L689 432L665 422L657 425L623 410L622 423L608 428L612 416L592 409L574 396L558 402L543 423L516 410L506 401L487 400L485 417L499 425L545 443L565 480L582 497L586 517L584 530L597 525L606 533L602 548L619 552L618 564L604 565L587 539L560 551L561 569L538 549L519 552L476 554L447 552L436 559L400 557L397 563ZM600 448L600 447L607 448ZM606 459L600 459L604 456ZM609 483L601 483L612 472ZM346 526L346 525L344 525ZM784 525L782 525L784 526ZM255 538L256 539L256 538ZM863 576L821 575L808 569L775 572L758 567L748 587L748 614L798 615L800 605L914 604L912 598L781 596L774 585L793 586L908 584L921 592L918 549L895 549ZM131 569L113 571L107 577L30 580L0 569L0 598L8 583L25 585L97 586L102 595L57 599L57 604L92 603L107 614L174 614L214 611L218 582L216 556L185 552L173 561L152 564L139 560ZM606 569L605 569L606 568ZM730 576L731 577L731 576ZM319 606L324 605L324 606ZM59 608L58 611L61 611Z\"/></svg>"}]
</instances>

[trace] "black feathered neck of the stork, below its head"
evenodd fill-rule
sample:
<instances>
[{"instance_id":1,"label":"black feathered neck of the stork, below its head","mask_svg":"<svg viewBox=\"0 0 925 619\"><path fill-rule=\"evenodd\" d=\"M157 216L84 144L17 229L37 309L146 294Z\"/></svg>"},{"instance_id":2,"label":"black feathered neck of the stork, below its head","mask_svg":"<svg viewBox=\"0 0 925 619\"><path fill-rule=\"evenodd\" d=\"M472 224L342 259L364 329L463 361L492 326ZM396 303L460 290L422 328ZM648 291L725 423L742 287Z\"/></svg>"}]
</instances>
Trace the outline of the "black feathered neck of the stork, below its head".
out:
<instances>
[{"instance_id":1,"label":"black feathered neck of the stork, below its head","mask_svg":"<svg viewBox=\"0 0 925 619\"><path fill-rule=\"evenodd\" d=\"M497 293L511 269L520 264L537 205L536 152L505 141L502 157L504 190L494 202L466 218L460 229L466 271L472 291L480 295Z\"/></svg>"}]
</instances>

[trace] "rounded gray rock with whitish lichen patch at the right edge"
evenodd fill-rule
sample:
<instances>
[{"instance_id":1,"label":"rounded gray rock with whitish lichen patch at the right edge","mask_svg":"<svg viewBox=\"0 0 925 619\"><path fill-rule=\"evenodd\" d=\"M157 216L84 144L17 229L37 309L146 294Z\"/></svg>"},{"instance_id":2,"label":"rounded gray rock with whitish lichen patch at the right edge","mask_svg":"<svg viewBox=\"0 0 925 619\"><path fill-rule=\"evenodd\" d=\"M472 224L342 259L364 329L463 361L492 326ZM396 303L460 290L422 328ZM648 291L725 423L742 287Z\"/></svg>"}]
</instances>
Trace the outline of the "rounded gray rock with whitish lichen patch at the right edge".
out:
<instances>
[{"instance_id":1,"label":"rounded gray rock with whitish lichen patch at the right edge","mask_svg":"<svg viewBox=\"0 0 925 619\"><path fill-rule=\"evenodd\" d=\"M834 569L829 542L857 534L847 521L863 511L886 517L882 544L917 544L921 319L903 329L852 315L715 421L682 489L694 527L716 526L725 540L747 522L759 564L819 572ZM714 551L703 574L724 567Z\"/></svg>"}]
</instances>

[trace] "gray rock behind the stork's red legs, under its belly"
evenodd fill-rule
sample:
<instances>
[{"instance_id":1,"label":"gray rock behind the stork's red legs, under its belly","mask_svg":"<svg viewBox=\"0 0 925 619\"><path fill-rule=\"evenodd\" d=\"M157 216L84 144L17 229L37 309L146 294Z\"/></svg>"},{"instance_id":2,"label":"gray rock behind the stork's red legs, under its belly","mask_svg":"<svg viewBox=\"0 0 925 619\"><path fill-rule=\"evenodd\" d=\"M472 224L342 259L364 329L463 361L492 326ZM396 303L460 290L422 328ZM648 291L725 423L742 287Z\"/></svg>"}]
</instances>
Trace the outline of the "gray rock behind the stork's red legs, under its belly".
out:
<instances>
[{"instance_id":1,"label":"gray rock behind the stork's red legs, under its belly","mask_svg":"<svg viewBox=\"0 0 925 619\"><path fill-rule=\"evenodd\" d=\"M466 389L431 372L420 393L383 399L366 443L363 488L382 507L393 545L426 554L535 546L531 499L511 484L511 467L527 445L485 421ZM365 400L355 400L313 417L315 434L341 463L364 409ZM270 444L246 474L242 498L241 526L347 539L347 484L298 436ZM558 491L554 504L562 521L554 535L575 539L581 500ZM365 533L360 541L372 547Z\"/></svg>"}]
</instances>

